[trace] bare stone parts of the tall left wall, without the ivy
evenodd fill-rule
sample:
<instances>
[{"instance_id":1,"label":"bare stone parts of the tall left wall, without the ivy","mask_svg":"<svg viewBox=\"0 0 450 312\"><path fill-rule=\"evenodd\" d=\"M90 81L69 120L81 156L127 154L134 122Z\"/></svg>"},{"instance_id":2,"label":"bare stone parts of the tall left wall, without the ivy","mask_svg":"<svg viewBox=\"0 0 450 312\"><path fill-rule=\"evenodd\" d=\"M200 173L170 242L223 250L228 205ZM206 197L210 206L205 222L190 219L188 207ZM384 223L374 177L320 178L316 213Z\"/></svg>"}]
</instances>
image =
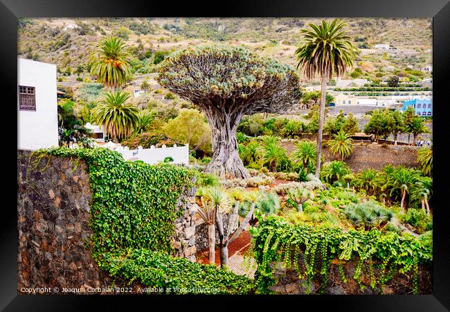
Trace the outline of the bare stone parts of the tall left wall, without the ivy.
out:
<instances>
[{"instance_id":1,"label":"bare stone parts of the tall left wall, without the ivy","mask_svg":"<svg viewBox=\"0 0 450 312\"><path fill-rule=\"evenodd\" d=\"M87 248L92 235L87 164L43 157L33 168L29 156L29 151L21 150L17 155L18 291L22 287L111 286L111 278L100 272ZM173 255L190 261L195 261L197 252L194 193L191 189L183 194L188 199L184 204L179 200L184 215L177 220L172 240ZM114 285L126 284L118 279Z\"/></svg>"}]
</instances>

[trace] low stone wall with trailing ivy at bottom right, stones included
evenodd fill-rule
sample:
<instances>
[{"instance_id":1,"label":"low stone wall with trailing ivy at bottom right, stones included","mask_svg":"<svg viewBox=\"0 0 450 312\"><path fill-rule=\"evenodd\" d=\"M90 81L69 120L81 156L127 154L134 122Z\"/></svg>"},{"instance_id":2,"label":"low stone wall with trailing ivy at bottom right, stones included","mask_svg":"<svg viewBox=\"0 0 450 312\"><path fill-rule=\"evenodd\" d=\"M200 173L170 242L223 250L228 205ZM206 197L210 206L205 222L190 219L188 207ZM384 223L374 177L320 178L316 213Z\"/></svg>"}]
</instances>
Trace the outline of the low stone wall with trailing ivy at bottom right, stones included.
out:
<instances>
[{"instance_id":1,"label":"low stone wall with trailing ivy at bottom right, stones included","mask_svg":"<svg viewBox=\"0 0 450 312\"><path fill-rule=\"evenodd\" d=\"M292 225L276 216L252 232L259 293L432 293L431 241L377 229Z\"/></svg>"}]
</instances>

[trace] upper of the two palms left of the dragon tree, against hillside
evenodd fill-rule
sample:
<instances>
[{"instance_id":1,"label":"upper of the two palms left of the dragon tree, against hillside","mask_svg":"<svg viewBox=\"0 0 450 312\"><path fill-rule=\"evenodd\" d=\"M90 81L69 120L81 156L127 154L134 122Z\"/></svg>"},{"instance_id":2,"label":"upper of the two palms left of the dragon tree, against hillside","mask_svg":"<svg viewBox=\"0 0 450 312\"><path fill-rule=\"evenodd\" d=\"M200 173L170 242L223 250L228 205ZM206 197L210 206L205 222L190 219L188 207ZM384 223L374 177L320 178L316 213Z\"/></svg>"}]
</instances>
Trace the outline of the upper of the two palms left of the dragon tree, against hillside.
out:
<instances>
[{"instance_id":1,"label":"upper of the two palms left of the dragon tree, against hillside","mask_svg":"<svg viewBox=\"0 0 450 312\"><path fill-rule=\"evenodd\" d=\"M121 38L109 37L102 40L91 54L89 67L91 75L105 87L122 87L130 76L132 56Z\"/></svg>"}]
</instances>

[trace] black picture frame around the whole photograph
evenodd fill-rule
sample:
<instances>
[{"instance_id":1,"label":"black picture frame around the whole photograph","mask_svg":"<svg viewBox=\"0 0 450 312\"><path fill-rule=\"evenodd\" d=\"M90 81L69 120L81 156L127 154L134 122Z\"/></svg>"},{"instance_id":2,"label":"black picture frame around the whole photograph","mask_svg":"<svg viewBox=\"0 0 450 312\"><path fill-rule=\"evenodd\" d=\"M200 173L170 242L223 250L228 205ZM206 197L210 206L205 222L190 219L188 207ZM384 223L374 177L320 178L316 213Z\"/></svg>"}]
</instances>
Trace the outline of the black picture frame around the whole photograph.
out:
<instances>
[{"instance_id":1,"label":"black picture frame around the whole photograph","mask_svg":"<svg viewBox=\"0 0 450 312\"><path fill-rule=\"evenodd\" d=\"M185 309L174 300L192 299L191 296L76 296L76 295L17 295L17 210L14 201L17 173L12 164L17 155L17 17L428 17L433 18L433 295L345 295L345 296L195 296L197 309L208 306L217 309L217 300L227 300L226 308L236 300L277 306L297 306L314 309L329 306L332 311L449 311L450 309L450 227L445 207L449 184L446 175L449 165L446 155L446 116L450 85L450 2L448 0L377 0L361 3L358 0L325 1L118 1L118 0L1 0L0 3L0 61L3 96L3 116L10 122L10 133L3 137L11 146L3 151L3 209L0 240L0 280L2 281L0 309L4 311L80 311L89 309L93 301L118 309L133 303L145 304L147 309L163 301L166 309ZM448 139L447 139L448 141ZM448 192L448 191L447 191ZM7 201L5 201L7 199ZM17 199L17 198L16 198ZM8 205L6 205L8 203ZM145 300L145 302L143 302ZM279 302L278 302L279 301ZM159 302L159 303L163 303ZM282 305L280 305L282 304ZM281 308L283 309L283 308Z\"/></svg>"}]
</instances>

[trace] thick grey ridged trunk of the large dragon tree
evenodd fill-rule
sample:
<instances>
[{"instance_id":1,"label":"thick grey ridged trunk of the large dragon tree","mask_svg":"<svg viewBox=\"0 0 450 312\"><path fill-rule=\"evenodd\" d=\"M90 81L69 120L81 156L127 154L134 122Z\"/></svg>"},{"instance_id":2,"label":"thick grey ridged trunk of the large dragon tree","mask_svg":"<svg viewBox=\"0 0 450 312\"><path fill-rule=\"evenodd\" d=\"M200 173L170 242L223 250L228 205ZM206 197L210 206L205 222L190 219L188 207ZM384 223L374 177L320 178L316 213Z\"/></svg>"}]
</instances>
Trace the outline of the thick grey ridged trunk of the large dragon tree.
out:
<instances>
[{"instance_id":1,"label":"thick grey ridged trunk of the large dragon tree","mask_svg":"<svg viewBox=\"0 0 450 312\"><path fill-rule=\"evenodd\" d=\"M215 173L219 177L250 177L237 153L236 130L242 115L206 114L211 128L213 143L213 157L206 166L206 171Z\"/></svg>"}]
</instances>

